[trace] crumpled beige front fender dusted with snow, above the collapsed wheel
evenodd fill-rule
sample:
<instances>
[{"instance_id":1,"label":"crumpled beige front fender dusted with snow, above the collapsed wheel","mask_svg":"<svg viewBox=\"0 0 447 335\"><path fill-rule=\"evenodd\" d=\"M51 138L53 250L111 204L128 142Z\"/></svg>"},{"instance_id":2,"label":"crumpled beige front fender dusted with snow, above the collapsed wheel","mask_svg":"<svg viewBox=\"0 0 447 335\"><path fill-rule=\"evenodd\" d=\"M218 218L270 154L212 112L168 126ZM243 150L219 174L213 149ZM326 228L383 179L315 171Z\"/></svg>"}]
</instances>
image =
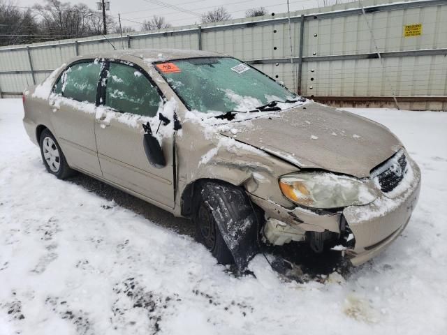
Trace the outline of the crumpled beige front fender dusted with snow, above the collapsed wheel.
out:
<instances>
[{"instance_id":1,"label":"crumpled beige front fender dusted with snow, above the collapsed wheel","mask_svg":"<svg viewBox=\"0 0 447 335\"><path fill-rule=\"evenodd\" d=\"M202 179L225 181L258 198L284 207L293 206L282 195L277 179L298 168L219 133L204 136L196 126L189 122L182 124L182 135L175 141L178 175L175 215L184 215L182 205L193 196L189 194L191 186Z\"/></svg>"}]
</instances>

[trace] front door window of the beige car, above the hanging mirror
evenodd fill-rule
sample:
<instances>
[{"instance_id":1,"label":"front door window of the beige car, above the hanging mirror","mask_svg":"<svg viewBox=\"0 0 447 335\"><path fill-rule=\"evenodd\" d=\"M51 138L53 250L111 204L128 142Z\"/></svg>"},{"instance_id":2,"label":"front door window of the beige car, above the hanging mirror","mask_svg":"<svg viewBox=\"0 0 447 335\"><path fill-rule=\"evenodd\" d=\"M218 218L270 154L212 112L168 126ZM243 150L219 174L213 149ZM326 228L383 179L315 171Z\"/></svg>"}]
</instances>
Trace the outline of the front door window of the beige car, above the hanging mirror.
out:
<instances>
[{"instance_id":1,"label":"front door window of the beige car, above the hanging mirror","mask_svg":"<svg viewBox=\"0 0 447 335\"><path fill-rule=\"evenodd\" d=\"M105 105L119 112L154 117L159 110L159 92L139 70L110 63Z\"/></svg>"}]
</instances>

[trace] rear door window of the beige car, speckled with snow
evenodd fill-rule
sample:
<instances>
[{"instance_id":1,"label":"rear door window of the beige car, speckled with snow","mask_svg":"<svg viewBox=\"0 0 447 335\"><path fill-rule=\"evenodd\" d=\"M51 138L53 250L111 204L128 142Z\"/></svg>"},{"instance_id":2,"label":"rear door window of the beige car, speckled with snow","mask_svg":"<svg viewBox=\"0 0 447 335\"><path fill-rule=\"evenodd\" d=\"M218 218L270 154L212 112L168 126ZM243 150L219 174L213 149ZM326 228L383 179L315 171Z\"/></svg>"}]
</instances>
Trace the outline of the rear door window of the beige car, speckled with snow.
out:
<instances>
[{"instance_id":1,"label":"rear door window of the beige car, speckled with snow","mask_svg":"<svg viewBox=\"0 0 447 335\"><path fill-rule=\"evenodd\" d=\"M67 68L54 87L54 93L76 101L95 103L101 63L83 62Z\"/></svg>"}]
</instances>

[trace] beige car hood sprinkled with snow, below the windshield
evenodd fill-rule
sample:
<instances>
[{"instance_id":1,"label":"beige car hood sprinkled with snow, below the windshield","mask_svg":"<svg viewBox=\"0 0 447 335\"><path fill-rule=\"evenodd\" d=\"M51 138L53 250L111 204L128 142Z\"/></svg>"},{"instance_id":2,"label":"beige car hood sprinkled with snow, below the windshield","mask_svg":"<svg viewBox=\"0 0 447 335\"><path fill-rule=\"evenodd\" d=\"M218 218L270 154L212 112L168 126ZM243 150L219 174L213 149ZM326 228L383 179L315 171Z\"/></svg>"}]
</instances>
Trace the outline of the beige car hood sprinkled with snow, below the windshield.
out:
<instances>
[{"instance_id":1,"label":"beige car hood sprinkled with snow, below the windshield","mask_svg":"<svg viewBox=\"0 0 447 335\"><path fill-rule=\"evenodd\" d=\"M233 122L221 134L298 168L323 169L358 178L368 177L373 168L402 147L385 126L318 103Z\"/></svg>"}]
</instances>

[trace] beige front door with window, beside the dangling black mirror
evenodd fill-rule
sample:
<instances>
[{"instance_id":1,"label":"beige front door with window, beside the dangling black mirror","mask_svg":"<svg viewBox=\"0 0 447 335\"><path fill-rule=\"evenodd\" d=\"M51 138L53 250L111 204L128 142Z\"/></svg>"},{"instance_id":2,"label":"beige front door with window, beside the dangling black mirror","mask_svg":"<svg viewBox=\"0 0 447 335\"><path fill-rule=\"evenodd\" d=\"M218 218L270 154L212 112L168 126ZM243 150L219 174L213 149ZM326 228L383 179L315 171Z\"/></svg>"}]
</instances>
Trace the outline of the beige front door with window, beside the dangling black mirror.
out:
<instances>
[{"instance_id":1,"label":"beige front door with window, beside the dangling black mirror","mask_svg":"<svg viewBox=\"0 0 447 335\"><path fill-rule=\"evenodd\" d=\"M143 147L142 124L158 124L158 113L163 108L156 85L135 64L110 61L101 98L103 106L96 114L95 133L103 177L161 207L173 208L173 137L163 137L161 143L164 168L154 168ZM153 130L155 133L156 128Z\"/></svg>"}]
</instances>

